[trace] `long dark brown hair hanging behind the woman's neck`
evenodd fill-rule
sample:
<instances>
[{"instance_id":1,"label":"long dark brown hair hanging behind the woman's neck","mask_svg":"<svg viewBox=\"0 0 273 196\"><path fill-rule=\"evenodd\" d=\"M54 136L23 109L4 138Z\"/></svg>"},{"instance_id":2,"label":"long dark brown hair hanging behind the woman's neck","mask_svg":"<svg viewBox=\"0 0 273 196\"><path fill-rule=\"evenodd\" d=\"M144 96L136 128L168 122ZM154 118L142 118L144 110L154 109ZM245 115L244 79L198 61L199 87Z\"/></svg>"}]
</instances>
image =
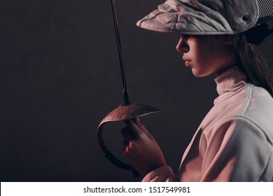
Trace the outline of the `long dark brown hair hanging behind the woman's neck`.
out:
<instances>
[{"instance_id":1,"label":"long dark brown hair hanging behind the woman's neck","mask_svg":"<svg viewBox=\"0 0 273 196\"><path fill-rule=\"evenodd\" d=\"M264 87L273 97L273 71L258 46L248 43L244 34L237 34L235 50L239 69L244 71L248 82Z\"/></svg>"}]
</instances>

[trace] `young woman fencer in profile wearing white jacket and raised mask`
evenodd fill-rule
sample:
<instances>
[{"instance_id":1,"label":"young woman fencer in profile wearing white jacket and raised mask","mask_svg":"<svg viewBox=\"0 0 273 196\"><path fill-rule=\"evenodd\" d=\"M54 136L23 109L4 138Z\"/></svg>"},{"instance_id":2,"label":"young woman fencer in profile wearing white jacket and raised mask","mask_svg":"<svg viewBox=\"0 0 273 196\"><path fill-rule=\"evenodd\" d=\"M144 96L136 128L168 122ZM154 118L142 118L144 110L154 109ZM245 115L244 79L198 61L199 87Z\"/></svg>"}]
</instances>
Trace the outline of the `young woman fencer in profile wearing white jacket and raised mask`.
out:
<instances>
[{"instance_id":1,"label":"young woman fencer in profile wearing white jacket and raised mask","mask_svg":"<svg viewBox=\"0 0 273 196\"><path fill-rule=\"evenodd\" d=\"M168 0L137 23L181 34L186 66L217 73L219 94L176 173L144 125L125 122L123 155L143 181L273 181L273 73L255 45L272 36L272 10L271 0Z\"/></svg>"}]
</instances>

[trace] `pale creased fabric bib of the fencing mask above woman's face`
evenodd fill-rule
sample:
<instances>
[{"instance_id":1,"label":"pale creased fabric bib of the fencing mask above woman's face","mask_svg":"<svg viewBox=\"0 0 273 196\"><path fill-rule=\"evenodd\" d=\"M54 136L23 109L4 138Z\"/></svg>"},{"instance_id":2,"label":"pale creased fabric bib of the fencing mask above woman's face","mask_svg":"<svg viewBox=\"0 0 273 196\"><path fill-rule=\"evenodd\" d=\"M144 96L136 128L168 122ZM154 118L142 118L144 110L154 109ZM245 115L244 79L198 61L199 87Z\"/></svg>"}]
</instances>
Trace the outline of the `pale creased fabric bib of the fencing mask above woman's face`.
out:
<instances>
[{"instance_id":1,"label":"pale creased fabric bib of the fencing mask above woman's face","mask_svg":"<svg viewBox=\"0 0 273 196\"><path fill-rule=\"evenodd\" d=\"M214 1L211 4L197 0L168 0L139 20L137 26L151 31L188 35L237 34L253 27L258 15L255 0Z\"/></svg>"}]
</instances>

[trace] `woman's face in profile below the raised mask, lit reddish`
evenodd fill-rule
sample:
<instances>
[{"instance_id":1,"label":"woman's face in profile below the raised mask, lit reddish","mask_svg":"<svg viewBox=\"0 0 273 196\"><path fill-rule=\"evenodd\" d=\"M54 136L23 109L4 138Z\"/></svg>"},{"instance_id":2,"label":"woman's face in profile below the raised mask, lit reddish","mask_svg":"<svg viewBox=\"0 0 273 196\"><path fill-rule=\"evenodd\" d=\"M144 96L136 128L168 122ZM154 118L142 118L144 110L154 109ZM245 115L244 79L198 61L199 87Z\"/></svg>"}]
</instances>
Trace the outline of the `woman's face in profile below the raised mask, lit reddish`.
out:
<instances>
[{"instance_id":1,"label":"woman's face in profile below the raised mask, lit reddish","mask_svg":"<svg viewBox=\"0 0 273 196\"><path fill-rule=\"evenodd\" d=\"M234 65L233 45L226 36L181 36L176 50L183 52L183 61L197 77L208 76Z\"/></svg>"}]
</instances>

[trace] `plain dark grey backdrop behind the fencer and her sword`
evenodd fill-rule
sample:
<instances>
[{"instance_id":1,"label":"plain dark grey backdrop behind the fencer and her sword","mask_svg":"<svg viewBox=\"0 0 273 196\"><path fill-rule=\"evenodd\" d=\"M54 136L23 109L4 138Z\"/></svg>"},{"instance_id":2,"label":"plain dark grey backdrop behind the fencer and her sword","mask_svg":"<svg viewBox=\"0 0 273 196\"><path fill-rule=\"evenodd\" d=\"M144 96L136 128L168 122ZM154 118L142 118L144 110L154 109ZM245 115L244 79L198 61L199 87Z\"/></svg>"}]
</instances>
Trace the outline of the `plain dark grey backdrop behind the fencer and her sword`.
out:
<instances>
[{"instance_id":1,"label":"plain dark grey backdrop behind the fencer and her sword","mask_svg":"<svg viewBox=\"0 0 273 196\"><path fill-rule=\"evenodd\" d=\"M161 109L141 118L174 171L213 106L214 76L195 78L179 35L135 26L164 0L116 0L132 102ZM272 42L260 48L272 62ZM209 48L208 48L209 50ZM99 122L123 104L110 0L0 1L0 180L141 181L104 158ZM106 144L122 158L120 130Z\"/></svg>"}]
</instances>

